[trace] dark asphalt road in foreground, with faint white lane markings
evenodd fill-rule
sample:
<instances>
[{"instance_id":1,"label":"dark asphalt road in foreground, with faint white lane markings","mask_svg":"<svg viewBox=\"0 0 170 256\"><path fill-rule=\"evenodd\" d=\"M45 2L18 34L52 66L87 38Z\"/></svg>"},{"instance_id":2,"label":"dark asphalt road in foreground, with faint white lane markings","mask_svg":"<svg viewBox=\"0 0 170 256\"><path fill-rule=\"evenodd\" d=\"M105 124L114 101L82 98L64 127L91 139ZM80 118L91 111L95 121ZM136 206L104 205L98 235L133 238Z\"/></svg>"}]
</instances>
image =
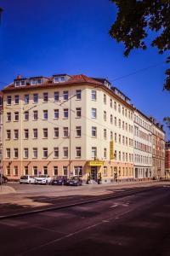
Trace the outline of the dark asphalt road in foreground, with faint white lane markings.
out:
<instances>
[{"instance_id":1,"label":"dark asphalt road in foreground, with faint white lane markings","mask_svg":"<svg viewBox=\"0 0 170 256\"><path fill-rule=\"evenodd\" d=\"M170 255L170 186L0 221L1 255Z\"/></svg>"}]
</instances>

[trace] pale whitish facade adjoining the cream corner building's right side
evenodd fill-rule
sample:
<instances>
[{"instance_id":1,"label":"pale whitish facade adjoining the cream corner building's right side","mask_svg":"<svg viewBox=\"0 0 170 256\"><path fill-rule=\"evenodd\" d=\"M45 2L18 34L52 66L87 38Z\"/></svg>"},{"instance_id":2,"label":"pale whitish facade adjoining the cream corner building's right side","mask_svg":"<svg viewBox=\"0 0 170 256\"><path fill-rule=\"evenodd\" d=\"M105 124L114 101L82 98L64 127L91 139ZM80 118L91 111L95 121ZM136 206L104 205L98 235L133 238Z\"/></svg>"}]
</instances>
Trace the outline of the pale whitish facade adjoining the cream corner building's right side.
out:
<instances>
[{"instance_id":1,"label":"pale whitish facade adjoining the cream corner building's right side","mask_svg":"<svg viewBox=\"0 0 170 256\"><path fill-rule=\"evenodd\" d=\"M152 173L152 133L150 119L134 110L134 177L145 179Z\"/></svg>"}]
</instances>

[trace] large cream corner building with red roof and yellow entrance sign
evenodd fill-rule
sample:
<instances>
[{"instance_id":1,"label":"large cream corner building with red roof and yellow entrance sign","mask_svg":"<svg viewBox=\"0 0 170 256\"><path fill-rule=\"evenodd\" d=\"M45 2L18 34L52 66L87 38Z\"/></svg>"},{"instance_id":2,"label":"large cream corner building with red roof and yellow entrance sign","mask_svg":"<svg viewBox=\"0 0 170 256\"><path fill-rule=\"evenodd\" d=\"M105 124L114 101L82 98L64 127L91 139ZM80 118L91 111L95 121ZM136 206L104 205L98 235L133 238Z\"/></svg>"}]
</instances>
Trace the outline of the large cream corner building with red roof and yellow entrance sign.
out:
<instances>
[{"instance_id":1,"label":"large cream corner building with red roof and yellow entrance sign","mask_svg":"<svg viewBox=\"0 0 170 256\"><path fill-rule=\"evenodd\" d=\"M133 179L133 106L105 79L14 79L3 90L3 172Z\"/></svg>"}]
</instances>

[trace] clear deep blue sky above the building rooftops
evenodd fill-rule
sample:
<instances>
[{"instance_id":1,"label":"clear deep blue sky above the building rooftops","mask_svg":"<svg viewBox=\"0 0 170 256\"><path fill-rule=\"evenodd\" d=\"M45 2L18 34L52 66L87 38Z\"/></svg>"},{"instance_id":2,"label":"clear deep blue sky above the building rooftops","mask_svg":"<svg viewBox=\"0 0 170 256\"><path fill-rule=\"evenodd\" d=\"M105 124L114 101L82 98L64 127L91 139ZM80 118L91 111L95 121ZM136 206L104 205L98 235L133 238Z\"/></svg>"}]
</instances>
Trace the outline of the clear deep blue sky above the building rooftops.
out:
<instances>
[{"instance_id":1,"label":"clear deep blue sky above the building rooftops","mask_svg":"<svg viewBox=\"0 0 170 256\"><path fill-rule=\"evenodd\" d=\"M145 114L161 122L170 116L170 93L162 90L166 56L149 47L123 57L123 45L109 36L116 19L109 0L0 0L0 6L0 82L8 84L17 74L105 77ZM150 68L121 79L144 67Z\"/></svg>"}]
</instances>

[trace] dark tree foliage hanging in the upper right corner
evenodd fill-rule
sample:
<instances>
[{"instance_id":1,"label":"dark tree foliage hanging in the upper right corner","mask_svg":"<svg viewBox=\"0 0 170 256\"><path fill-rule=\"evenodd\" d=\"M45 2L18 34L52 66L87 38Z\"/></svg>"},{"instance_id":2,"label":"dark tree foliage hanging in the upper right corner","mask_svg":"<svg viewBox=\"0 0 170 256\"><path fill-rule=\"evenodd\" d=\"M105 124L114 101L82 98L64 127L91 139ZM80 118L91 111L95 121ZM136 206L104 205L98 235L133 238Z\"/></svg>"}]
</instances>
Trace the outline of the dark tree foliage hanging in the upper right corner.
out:
<instances>
[{"instance_id":1,"label":"dark tree foliage hanging in the upper right corner","mask_svg":"<svg viewBox=\"0 0 170 256\"><path fill-rule=\"evenodd\" d=\"M124 55L132 49L146 49L144 38L156 32L152 47L163 54L170 49L170 0L111 0L116 4L116 21L111 26L111 38L125 45ZM167 57L167 63L170 57ZM170 69L167 69L164 89L170 91Z\"/></svg>"}]
</instances>

